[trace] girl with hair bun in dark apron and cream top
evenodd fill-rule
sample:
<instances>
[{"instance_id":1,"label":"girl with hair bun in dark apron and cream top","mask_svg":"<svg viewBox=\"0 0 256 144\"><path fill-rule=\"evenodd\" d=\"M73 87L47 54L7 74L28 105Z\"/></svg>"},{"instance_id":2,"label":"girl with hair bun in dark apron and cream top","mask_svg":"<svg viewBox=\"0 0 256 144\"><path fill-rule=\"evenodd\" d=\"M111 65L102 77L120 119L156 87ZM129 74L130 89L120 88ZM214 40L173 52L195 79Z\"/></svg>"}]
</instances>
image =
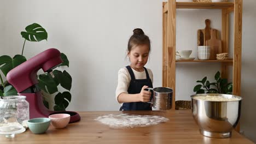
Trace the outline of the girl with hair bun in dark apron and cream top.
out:
<instances>
[{"instance_id":1,"label":"girl with hair bun in dark apron and cream top","mask_svg":"<svg viewBox=\"0 0 256 144\"><path fill-rule=\"evenodd\" d=\"M127 56L131 64L118 71L118 86L115 98L123 103L120 110L152 110L150 101L151 92L145 88L153 87L153 74L144 67L148 62L150 40L142 29L133 30L129 39Z\"/></svg>"}]
</instances>

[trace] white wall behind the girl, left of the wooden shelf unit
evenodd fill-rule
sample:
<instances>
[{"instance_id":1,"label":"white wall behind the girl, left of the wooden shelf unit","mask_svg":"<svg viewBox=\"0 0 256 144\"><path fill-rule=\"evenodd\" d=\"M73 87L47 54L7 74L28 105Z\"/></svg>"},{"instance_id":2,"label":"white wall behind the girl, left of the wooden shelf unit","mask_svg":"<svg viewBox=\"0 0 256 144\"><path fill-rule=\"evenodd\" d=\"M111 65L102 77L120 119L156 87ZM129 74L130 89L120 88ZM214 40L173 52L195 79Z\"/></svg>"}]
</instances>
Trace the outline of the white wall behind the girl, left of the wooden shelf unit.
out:
<instances>
[{"instance_id":1,"label":"white wall behind the girl, left of the wooden shelf unit","mask_svg":"<svg viewBox=\"0 0 256 144\"><path fill-rule=\"evenodd\" d=\"M33 22L49 35L48 41L26 41L27 58L50 47L66 53L73 78L69 110L119 110L115 101L118 70L129 64L127 41L137 27L152 39L146 67L156 71L154 86L161 86L161 1L5 2L8 55L21 53L24 39L20 32Z\"/></svg>"}]
</instances>

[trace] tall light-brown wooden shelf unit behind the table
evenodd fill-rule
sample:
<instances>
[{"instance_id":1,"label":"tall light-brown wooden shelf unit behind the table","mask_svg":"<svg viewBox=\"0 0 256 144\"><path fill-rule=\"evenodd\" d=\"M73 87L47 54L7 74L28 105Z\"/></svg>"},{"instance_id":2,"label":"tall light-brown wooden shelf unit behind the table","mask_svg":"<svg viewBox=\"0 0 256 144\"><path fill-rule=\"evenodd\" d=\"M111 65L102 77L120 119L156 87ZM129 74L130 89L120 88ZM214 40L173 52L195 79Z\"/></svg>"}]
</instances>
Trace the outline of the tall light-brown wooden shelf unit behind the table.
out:
<instances>
[{"instance_id":1,"label":"tall light-brown wooden shelf unit behind the table","mask_svg":"<svg viewBox=\"0 0 256 144\"><path fill-rule=\"evenodd\" d=\"M221 76L228 78L228 65L233 67L233 94L241 93L241 49L242 49L242 0L221 3L176 2L162 3L162 86L173 88L172 110L175 110L176 63L216 62L221 63ZM176 61L176 9L221 9L222 10L222 52L229 52L229 19L234 12L234 56L227 60ZM196 32L195 32L196 34Z\"/></svg>"}]
</instances>

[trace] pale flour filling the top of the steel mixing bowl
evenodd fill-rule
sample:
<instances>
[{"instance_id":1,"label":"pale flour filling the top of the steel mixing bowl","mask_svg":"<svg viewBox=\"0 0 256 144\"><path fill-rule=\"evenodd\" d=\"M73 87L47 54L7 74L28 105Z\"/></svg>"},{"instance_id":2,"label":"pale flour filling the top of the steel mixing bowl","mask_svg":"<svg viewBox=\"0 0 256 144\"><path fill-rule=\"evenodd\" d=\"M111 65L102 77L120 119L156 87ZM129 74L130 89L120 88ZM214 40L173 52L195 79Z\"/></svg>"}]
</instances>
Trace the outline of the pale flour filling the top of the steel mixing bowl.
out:
<instances>
[{"instance_id":1,"label":"pale flour filling the top of the steel mixing bowl","mask_svg":"<svg viewBox=\"0 0 256 144\"><path fill-rule=\"evenodd\" d=\"M197 96L195 99L208 100L208 101L235 101L240 100L239 98L232 97L232 95L222 96L222 95L206 95L206 96Z\"/></svg>"}]
</instances>

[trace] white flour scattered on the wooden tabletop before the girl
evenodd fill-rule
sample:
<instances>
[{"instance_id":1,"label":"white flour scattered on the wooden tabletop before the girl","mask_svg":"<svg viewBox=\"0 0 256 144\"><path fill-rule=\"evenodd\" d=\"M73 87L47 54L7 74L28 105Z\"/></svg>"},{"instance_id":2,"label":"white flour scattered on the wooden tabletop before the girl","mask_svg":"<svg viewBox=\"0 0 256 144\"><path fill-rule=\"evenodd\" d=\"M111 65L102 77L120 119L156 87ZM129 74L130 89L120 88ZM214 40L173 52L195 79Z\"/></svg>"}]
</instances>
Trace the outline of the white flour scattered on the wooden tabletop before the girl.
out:
<instances>
[{"instance_id":1,"label":"white flour scattered on the wooden tabletop before the girl","mask_svg":"<svg viewBox=\"0 0 256 144\"><path fill-rule=\"evenodd\" d=\"M123 113L99 116L95 120L113 128L133 128L164 123L169 119L161 116L129 115L127 113Z\"/></svg>"}]
</instances>

